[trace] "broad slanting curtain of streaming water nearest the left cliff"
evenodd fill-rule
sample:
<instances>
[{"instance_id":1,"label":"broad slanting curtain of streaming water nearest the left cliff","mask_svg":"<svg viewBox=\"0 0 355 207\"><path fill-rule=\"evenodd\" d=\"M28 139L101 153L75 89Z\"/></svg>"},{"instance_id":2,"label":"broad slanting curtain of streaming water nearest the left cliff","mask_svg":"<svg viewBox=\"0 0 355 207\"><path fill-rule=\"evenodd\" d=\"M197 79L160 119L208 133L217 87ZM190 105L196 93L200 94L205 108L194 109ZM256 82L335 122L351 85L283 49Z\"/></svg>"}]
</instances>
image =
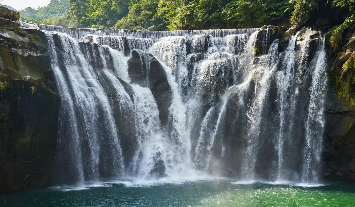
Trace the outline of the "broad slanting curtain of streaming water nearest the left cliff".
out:
<instances>
[{"instance_id":1,"label":"broad slanting curtain of streaming water nearest the left cliff","mask_svg":"<svg viewBox=\"0 0 355 207\"><path fill-rule=\"evenodd\" d=\"M78 181L98 180L101 174L122 177L125 165L118 136L118 128L111 110L110 100L105 88L100 83L100 71L92 67L92 59L87 45L81 45L69 36L58 34L57 38L63 48L64 64L58 66L58 55L53 47L51 34L46 33L52 54L52 67L62 97L62 106L68 107L66 129L73 131L68 137L72 140L76 157ZM103 70L108 66L105 61L104 48L99 47ZM92 59L90 59L92 58ZM97 59L95 61L98 61ZM102 124L105 123L105 124ZM62 126L64 127L64 126ZM67 144L70 145L70 144Z\"/></svg>"}]
</instances>

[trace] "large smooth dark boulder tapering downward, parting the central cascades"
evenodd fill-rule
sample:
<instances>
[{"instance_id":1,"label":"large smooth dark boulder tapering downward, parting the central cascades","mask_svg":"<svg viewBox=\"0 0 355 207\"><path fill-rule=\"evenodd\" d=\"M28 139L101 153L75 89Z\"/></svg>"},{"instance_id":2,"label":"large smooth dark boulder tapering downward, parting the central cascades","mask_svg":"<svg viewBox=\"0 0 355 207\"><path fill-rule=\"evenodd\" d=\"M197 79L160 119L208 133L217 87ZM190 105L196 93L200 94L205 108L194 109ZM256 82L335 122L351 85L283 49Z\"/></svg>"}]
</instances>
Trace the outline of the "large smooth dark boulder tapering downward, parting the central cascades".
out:
<instances>
[{"instance_id":1,"label":"large smooth dark boulder tapering downward, parting the central cascades","mask_svg":"<svg viewBox=\"0 0 355 207\"><path fill-rule=\"evenodd\" d=\"M157 101L159 118L163 126L168 124L171 105L171 88L160 62L148 52L133 50L128 60L128 71L132 84L148 87Z\"/></svg>"}]
</instances>

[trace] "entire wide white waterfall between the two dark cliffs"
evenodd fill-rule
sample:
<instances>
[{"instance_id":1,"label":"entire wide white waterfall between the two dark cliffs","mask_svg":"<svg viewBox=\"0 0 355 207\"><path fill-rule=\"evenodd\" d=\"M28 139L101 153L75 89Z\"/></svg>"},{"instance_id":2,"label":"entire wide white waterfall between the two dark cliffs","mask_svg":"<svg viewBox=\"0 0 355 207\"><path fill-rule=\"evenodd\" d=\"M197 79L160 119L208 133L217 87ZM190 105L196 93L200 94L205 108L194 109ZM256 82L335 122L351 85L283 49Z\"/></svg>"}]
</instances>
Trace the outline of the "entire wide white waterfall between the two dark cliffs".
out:
<instances>
[{"instance_id":1,"label":"entire wide white waterfall between the two dark cliffs","mask_svg":"<svg viewBox=\"0 0 355 207\"><path fill-rule=\"evenodd\" d=\"M19 23L47 30L62 98L57 159L66 170L56 172L58 182L206 173L319 181L327 84L319 31L302 29L280 52L269 27L134 31Z\"/></svg>"}]
</instances>

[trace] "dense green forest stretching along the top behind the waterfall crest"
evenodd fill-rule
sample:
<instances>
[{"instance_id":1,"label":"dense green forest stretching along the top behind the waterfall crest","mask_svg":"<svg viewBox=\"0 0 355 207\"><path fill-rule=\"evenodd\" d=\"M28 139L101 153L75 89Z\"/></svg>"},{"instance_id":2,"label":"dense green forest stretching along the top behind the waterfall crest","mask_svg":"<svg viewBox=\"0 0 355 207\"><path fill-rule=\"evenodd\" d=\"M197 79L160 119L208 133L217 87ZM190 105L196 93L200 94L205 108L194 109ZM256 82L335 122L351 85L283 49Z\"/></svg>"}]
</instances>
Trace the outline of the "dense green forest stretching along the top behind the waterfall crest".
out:
<instances>
[{"instance_id":1,"label":"dense green forest stretching along the top behind the waterfall crest","mask_svg":"<svg viewBox=\"0 0 355 207\"><path fill-rule=\"evenodd\" d=\"M24 21L66 27L179 30L349 25L354 8L355 0L51 0L20 13Z\"/></svg>"}]
</instances>

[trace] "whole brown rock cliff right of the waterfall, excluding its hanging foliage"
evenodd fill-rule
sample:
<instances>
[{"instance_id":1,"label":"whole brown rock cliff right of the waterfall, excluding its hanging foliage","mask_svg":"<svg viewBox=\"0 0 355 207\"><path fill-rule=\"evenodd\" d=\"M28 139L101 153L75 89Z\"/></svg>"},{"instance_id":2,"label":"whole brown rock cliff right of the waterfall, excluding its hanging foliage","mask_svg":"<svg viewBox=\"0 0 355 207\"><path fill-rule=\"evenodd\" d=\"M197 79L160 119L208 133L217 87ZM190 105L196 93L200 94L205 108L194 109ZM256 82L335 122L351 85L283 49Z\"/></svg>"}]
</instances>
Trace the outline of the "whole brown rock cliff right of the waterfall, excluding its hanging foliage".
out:
<instances>
[{"instance_id":1,"label":"whole brown rock cliff right of the waterfall, excluding its hanging foliage","mask_svg":"<svg viewBox=\"0 0 355 207\"><path fill-rule=\"evenodd\" d=\"M355 28L343 35L343 45L335 54L329 50L329 89L326 101L324 177L330 180L355 181L355 110L350 100L337 96L336 70L355 55Z\"/></svg>"}]
</instances>

